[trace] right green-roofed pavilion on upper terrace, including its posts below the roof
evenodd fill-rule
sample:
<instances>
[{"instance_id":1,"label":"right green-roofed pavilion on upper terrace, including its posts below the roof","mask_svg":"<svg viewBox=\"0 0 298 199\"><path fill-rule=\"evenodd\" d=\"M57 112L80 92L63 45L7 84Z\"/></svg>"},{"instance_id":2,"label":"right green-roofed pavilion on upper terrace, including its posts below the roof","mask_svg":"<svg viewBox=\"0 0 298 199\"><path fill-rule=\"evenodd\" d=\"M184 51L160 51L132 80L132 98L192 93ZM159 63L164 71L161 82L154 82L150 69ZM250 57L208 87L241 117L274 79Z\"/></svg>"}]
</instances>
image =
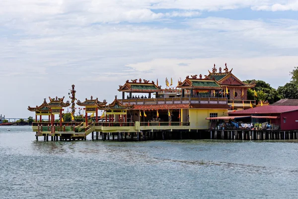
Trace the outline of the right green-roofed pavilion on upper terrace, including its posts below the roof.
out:
<instances>
[{"instance_id":1,"label":"right green-roofed pavilion on upper terrace, including its posts below the roof","mask_svg":"<svg viewBox=\"0 0 298 199\"><path fill-rule=\"evenodd\" d=\"M197 79L197 75L193 75L191 78L187 76L177 88L182 89L182 98L185 96L185 90L190 90L190 97L217 97L216 94L222 89L215 79L202 79L202 75L199 76L199 79Z\"/></svg>"}]
</instances>

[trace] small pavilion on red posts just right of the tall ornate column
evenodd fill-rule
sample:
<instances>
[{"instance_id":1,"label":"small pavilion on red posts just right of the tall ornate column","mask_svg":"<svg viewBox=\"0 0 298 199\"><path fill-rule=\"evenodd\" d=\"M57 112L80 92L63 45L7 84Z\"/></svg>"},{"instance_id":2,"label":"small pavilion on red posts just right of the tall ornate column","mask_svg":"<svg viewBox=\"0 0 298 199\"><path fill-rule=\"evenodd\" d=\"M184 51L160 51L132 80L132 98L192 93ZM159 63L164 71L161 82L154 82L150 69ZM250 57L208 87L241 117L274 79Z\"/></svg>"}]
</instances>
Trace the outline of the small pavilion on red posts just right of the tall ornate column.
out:
<instances>
[{"instance_id":1,"label":"small pavilion on red posts just right of the tall ornate column","mask_svg":"<svg viewBox=\"0 0 298 199\"><path fill-rule=\"evenodd\" d=\"M80 100L77 100L76 102L79 106L85 106L85 122L86 125L88 123L88 115L87 113L95 113L95 121L98 121L98 108L103 107L107 104L106 100L103 100L103 102L100 102L98 98L93 100L93 97L91 96L90 100L85 99L85 101L81 102Z\"/></svg>"}]
</instances>

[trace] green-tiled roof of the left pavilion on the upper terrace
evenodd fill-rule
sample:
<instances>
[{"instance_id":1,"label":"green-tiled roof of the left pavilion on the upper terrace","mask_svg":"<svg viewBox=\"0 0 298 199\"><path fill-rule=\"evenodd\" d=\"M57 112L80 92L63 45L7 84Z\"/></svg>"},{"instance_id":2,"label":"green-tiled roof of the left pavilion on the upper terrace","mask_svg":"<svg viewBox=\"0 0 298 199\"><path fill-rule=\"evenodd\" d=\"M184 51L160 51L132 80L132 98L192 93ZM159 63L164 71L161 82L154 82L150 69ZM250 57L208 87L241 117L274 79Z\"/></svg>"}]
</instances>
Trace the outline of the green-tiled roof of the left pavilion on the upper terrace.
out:
<instances>
[{"instance_id":1,"label":"green-tiled roof of the left pavilion on the upper terrace","mask_svg":"<svg viewBox=\"0 0 298 199\"><path fill-rule=\"evenodd\" d=\"M118 91L132 93L155 93L160 91L160 87L157 87L153 81L151 83L149 83L148 80L143 80L142 82L142 79L140 79L139 82L137 82L137 79L131 81L132 82L129 82L129 80L127 80L125 85L119 85Z\"/></svg>"}]
</instances>

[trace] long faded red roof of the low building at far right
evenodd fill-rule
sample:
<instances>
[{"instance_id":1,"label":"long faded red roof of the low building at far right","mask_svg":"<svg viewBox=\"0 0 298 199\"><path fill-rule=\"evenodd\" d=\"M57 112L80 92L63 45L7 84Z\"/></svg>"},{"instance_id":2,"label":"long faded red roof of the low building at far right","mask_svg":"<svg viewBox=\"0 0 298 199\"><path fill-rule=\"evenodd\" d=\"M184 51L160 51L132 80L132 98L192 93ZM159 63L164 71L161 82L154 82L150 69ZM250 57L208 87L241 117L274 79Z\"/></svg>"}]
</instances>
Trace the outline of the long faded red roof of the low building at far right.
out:
<instances>
[{"instance_id":1,"label":"long faded red roof of the low building at far right","mask_svg":"<svg viewBox=\"0 0 298 199\"><path fill-rule=\"evenodd\" d=\"M258 106L254 108L249 108L245 110L239 110L235 112L229 112L229 115L237 115L237 114L269 114L269 113L282 113L282 112L291 112L294 110L298 110L298 106Z\"/></svg>"}]
</instances>

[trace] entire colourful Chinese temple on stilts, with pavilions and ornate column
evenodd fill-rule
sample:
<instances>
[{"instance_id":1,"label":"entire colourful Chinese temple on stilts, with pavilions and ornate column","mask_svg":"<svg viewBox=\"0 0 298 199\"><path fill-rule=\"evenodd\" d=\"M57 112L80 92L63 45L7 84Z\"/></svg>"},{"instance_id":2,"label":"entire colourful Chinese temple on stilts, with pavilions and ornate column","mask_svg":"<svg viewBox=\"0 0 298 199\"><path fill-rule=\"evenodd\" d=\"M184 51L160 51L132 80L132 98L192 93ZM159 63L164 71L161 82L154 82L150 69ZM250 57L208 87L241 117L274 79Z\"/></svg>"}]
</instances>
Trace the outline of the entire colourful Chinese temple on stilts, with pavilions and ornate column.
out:
<instances>
[{"instance_id":1,"label":"entire colourful Chinese temple on stilts, with pavilions and ornate column","mask_svg":"<svg viewBox=\"0 0 298 199\"><path fill-rule=\"evenodd\" d=\"M184 81L178 81L176 88L168 84L166 89L153 81L145 79L127 80L124 85L119 85L119 92L122 92L122 98L115 99L107 105L93 97L83 102L77 100L76 105L83 106L85 114L81 115L83 122L74 121L72 113L72 122L63 122L63 107L70 105L69 101L63 102L63 99L51 99L36 108L29 107L35 111L36 115L49 115L51 122L36 122L33 124L33 130L37 132L36 136L60 136L60 139L86 139L86 136L92 132L102 133L103 139L106 136L116 135L122 140L129 134L131 139L137 135L140 140L140 133L143 139L147 136L154 137L166 134L179 133L188 135L192 133L194 137L198 132L206 132L210 128L210 121L206 118L223 117L228 115L228 111L235 109L250 108L255 101L247 100L247 89L253 88L254 84L245 84L237 79L225 66L224 72L214 66L209 75L202 77L200 74L187 76ZM74 90L74 85L73 85ZM142 95L142 96L140 96ZM145 96L144 96L145 95ZM72 111L75 110L73 95ZM98 110L103 114L99 117ZM60 115L59 123L55 123L55 114ZM88 115L89 114L89 115ZM100 118L100 119L99 119ZM41 119L40 119L41 120ZM45 128L44 126L48 126ZM54 126L54 127L53 127ZM56 128L59 126L59 128ZM54 129L54 132L53 132ZM111 134L112 133L112 134ZM155 134L154 134L155 133ZM154 134L154 135L153 135ZM118 136L118 135L117 135ZM200 134L200 138L206 137ZM56 138L58 139L58 138Z\"/></svg>"}]
</instances>

